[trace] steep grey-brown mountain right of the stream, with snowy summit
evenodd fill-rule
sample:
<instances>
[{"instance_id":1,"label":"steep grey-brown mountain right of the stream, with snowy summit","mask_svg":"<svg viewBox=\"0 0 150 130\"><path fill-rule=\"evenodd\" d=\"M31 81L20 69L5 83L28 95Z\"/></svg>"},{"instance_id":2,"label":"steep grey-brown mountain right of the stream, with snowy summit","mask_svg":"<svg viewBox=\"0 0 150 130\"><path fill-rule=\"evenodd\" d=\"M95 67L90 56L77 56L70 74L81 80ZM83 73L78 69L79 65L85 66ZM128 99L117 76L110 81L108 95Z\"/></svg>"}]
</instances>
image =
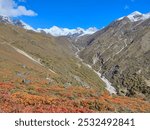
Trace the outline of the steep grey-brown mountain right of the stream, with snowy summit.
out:
<instances>
[{"instance_id":1,"label":"steep grey-brown mountain right of the stream, with snowy summit","mask_svg":"<svg viewBox=\"0 0 150 130\"><path fill-rule=\"evenodd\" d=\"M134 12L77 41L80 57L126 96L150 98L150 18Z\"/></svg>"}]
</instances>

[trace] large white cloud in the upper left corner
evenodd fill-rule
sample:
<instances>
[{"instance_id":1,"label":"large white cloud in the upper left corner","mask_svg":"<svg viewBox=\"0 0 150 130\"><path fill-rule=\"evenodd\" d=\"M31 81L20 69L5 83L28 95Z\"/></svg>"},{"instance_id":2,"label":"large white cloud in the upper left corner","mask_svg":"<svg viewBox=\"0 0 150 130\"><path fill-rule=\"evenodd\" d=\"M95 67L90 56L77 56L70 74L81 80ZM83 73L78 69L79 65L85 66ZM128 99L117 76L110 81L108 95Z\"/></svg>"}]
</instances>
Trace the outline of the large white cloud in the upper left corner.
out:
<instances>
[{"instance_id":1,"label":"large white cloud in the upper left corner","mask_svg":"<svg viewBox=\"0 0 150 130\"><path fill-rule=\"evenodd\" d=\"M0 15L10 17L17 16L36 16L33 10L26 9L25 6L17 5L14 0L0 0Z\"/></svg>"}]
</instances>

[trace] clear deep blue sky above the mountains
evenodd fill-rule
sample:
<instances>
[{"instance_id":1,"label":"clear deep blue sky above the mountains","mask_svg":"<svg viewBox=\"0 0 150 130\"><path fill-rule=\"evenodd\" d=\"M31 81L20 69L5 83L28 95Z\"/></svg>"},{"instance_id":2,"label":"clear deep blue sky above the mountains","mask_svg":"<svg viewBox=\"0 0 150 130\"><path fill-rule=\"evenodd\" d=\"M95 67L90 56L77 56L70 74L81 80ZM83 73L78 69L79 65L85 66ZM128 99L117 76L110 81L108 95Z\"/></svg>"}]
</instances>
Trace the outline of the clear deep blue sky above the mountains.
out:
<instances>
[{"instance_id":1,"label":"clear deep blue sky above the mountains","mask_svg":"<svg viewBox=\"0 0 150 130\"><path fill-rule=\"evenodd\" d=\"M3 1L3 0L2 0ZM19 16L34 28L102 28L133 11L150 12L150 0L5 0L34 12ZM16 7L15 7L16 8ZM34 16L35 15L35 16Z\"/></svg>"}]
</instances>

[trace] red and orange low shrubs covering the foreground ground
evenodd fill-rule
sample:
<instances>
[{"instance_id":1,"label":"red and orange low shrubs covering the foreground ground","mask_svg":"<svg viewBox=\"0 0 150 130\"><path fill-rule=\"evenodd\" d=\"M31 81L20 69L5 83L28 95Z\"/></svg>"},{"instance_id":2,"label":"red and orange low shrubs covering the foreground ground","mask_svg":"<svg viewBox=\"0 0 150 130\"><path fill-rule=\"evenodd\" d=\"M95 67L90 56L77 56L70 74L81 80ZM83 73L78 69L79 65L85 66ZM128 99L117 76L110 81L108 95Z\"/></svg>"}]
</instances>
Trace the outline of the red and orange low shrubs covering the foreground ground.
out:
<instances>
[{"instance_id":1,"label":"red and orange low shrubs covering the foreground ground","mask_svg":"<svg viewBox=\"0 0 150 130\"><path fill-rule=\"evenodd\" d=\"M41 86L16 88L0 82L0 112L150 112L150 103L142 98L98 94L84 87Z\"/></svg>"}]
</instances>

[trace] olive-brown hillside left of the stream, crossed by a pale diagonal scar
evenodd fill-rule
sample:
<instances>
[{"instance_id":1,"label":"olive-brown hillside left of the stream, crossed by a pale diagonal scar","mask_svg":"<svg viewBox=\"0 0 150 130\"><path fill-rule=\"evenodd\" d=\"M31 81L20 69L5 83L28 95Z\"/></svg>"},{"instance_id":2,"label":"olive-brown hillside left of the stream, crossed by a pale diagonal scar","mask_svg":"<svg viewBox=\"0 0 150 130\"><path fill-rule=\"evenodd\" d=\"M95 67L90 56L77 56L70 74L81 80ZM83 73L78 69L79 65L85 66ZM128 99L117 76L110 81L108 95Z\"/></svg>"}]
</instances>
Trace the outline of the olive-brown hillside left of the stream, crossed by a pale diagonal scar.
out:
<instances>
[{"instance_id":1,"label":"olive-brown hillside left of the stream, crossed by a pale diagonal scar","mask_svg":"<svg viewBox=\"0 0 150 130\"><path fill-rule=\"evenodd\" d=\"M65 38L54 38L15 26L0 24L0 80L28 84L93 87L104 84L74 56Z\"/></svg>"}]
</instances>

